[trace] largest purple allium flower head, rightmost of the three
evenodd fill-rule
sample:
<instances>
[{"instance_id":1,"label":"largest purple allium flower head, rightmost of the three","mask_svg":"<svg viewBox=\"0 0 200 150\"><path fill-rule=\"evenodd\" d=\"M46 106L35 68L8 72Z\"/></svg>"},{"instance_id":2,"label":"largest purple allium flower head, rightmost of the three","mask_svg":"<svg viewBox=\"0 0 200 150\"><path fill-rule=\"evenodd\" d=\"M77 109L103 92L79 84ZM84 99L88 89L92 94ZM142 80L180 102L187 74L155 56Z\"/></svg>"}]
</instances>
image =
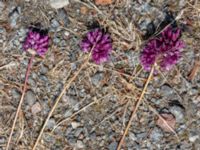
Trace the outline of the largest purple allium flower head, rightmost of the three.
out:
<instances>
[{"instance_id":1,"label":"largest purple allium flower head, rightmost of the three","mask_svg":"<svg viewBox=\"0 0 200 150\"><path fill-rule=\"evenodd\" d=\"M185 44L179 28L167 27L158 37L151 39L144 47L140 61L145 70L150 71L154 63L162 70L170 70L180 59Z\"/></svg>"}]
</instances>

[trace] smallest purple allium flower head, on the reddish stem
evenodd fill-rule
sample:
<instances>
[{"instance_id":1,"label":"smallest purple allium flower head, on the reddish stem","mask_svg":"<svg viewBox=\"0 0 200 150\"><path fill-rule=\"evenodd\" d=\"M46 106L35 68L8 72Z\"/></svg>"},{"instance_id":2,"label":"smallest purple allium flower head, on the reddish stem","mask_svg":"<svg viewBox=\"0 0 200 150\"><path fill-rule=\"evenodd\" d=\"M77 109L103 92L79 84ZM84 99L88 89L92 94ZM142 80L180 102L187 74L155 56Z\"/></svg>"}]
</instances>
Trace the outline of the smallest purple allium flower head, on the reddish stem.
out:
<instances>
[{"instance_id":1,"label":"smallest purple allium flower head, on the reddish stem","mask_svg":"<svg viewBox=\"0 0 200 150\"><path fill-rule=\"evenodd\" d=\"M49 36L43 30L30 28L24 41L25 51L30 50L43 57L48 50Z\"/></svg>"}]
</instances>

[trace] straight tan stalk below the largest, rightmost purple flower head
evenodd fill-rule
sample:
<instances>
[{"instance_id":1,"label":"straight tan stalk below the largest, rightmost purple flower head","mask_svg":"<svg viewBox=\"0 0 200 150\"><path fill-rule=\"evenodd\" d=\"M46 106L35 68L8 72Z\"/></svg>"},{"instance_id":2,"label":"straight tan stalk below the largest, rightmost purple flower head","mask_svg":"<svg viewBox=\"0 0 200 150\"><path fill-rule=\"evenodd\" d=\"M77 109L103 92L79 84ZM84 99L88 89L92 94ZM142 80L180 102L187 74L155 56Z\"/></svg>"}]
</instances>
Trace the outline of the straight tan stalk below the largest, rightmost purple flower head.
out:
<instances>
[{"instance_id":1,"label":"straight tan stalk below the largest, rightmost purple flower head","mask_svg":"<svg viewBox=\"0 0 200 150\"><path fill-rule=\"evenodd\" d=\"M122 146L122 144L123 144L123 142L124 142L124 139L125 139L125 137L126 137L126 134L128 133L128 130L129 130L129 128L130 128L130 126L131 126L131 123L132 123L132 121L133 121L133 118L135 117L135 114L136 114L136 112L137 112L137 110L138 110L138 107L140 106L140 104L141 104L141 102L142 102L142 99L143 99L143 97L144 97L144 94L145 94L145 92L146 92L146 89L147 89L147 87L148 87L148 84L149 84L149 82L151 81L151 77L152 77L152 75L153 75L153 73L154 73L154 68L155 68L155 65L151 68L151 72L150 72L150 74L149 74L149 77L148 77L148 79L147 79L145 85L144 85L144 88L143 88L143 90L142 90L142 93L141 93L141 95L140 95L138 101L136 102L136 106L133 107L132 114L131 114L131 118L129 119L128 125L126 126L126 129L125 129L124 134L123 134L123 136L122 136L122 138L121 138L121 140L120 140L120 142L119 142L119 145L118 145L118 147L117 147L117 150L120 150L120 149L121 149L121 146Z\"/></svg>"}]
</instances>

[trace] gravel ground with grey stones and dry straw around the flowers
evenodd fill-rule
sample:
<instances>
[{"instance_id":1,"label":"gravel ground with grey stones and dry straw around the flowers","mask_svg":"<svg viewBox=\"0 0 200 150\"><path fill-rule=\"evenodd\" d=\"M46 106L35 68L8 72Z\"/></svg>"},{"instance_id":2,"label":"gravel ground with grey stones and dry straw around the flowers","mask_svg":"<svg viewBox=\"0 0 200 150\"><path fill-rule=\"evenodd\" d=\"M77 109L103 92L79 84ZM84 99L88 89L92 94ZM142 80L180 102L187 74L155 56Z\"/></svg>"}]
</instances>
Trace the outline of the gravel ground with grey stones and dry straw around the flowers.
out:
<instances>
[{"instance_id":1,"label":"gravel ground with grey stones and dry straw around the flowers","mask_svg":"<svg viewBox=\"0 0 200 150\"><path fill-rule=\"evenodd\" d=\"M90 61L80 72L47 122L37 149L116 150L148 77L139 54L166 11L184 30L186 47L171 71L154 75L122 149L200 149L200 74L189 77L199 61L200 3L63 0L60 5L55 9L55 0L0 1L0 149L7 144L22 93L30 58L22 43L30 24L47 28L51 42L45 58L33 62L10 148L33 148L56 98L83 63L86 54L79 42L98 23L111 33L111 59L102 65ZM162 113L175 117L178 139L157 124Z\"/></svg>"}]
</instances>

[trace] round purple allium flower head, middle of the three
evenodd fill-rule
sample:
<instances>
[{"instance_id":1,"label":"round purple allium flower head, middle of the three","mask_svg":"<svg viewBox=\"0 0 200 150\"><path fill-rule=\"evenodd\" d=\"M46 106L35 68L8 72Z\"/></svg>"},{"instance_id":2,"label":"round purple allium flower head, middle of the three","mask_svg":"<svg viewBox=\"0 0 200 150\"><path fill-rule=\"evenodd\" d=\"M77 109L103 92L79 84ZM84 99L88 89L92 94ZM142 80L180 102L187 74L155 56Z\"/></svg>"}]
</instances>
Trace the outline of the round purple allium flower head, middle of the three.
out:
<instances>
[{"instance_id":1,"label":"round purple allium flower head, middle of the three","mask_svg":"<svg viewBox=\"0 0 200 150\"><path fill-rule=\"evenodd\" d=\"M80 47L84 52L91 52L92 60L96 64L106 62L112 51L112 40L109 34L104 33L101 29L94 29L87 33L81 41Z\"/></svg>"}]
</instances>

